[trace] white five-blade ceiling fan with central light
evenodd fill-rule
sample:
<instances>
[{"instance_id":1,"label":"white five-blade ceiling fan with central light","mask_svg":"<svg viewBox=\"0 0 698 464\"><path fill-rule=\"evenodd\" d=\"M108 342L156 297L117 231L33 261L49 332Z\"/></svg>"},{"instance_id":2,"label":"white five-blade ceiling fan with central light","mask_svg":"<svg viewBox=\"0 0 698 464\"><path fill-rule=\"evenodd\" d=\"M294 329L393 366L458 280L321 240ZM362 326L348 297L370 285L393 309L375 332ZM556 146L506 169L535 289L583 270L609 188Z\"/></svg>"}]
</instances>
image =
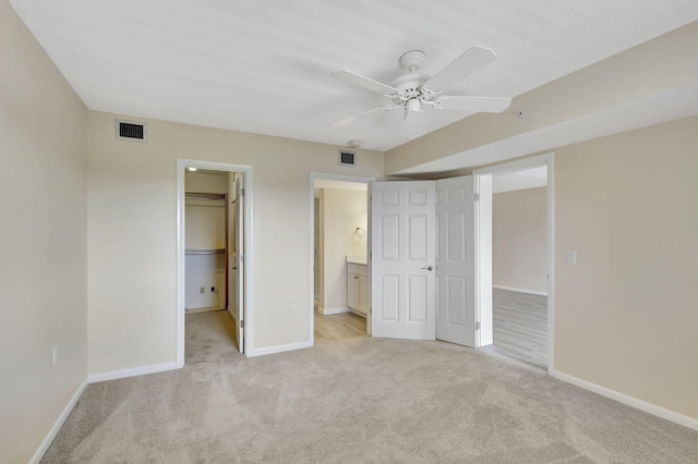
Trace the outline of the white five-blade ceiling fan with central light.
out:
<instances>
[{"instance_id":1,"label":"white five-blade ceiling fan with central light","mask_svg":"<svg viewBox=\"0 0 698 464\"><path fill-rule=\"evenodd\" d=\"M341 127L351 124L358 118L402 108L402 119L407 122L408 136L414 138L424 135L426 132L422 117L424 107L467 112L501 113L512 105L512 99L505 97L472 97L443 94L444 90L496 60L497 56L492 49L480 46L471 47L433 76L420 72L425 59L426 53L420 50L411 50L404 53L399 59L399 63L406 73L393 81L390 85L351 71L342 70L330 73L332 76L338 80L383 94L390 100L389 103L382 107L336 121L332 126Z\"/></svg>"}]
</instances>

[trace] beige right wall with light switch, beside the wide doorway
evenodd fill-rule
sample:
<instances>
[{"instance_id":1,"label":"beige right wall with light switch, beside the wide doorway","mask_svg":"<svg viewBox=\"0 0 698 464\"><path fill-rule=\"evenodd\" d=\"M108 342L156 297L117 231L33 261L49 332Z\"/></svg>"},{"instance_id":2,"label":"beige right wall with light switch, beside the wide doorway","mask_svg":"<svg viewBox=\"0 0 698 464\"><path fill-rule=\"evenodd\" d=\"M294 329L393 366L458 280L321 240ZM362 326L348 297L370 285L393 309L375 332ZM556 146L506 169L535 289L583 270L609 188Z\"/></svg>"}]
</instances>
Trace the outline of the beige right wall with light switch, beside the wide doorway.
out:
<instances>
[{"instance_id":1,"label":"beige right wall with light switch, beside the wide doorway","mask_svg":"<svg viewBox=\"0 0 698 464\"><path fill-rule=\"evenodd\" d=\"M555 151L555 367L698 418L698 118Z\"/></svg>"}]
</instances>

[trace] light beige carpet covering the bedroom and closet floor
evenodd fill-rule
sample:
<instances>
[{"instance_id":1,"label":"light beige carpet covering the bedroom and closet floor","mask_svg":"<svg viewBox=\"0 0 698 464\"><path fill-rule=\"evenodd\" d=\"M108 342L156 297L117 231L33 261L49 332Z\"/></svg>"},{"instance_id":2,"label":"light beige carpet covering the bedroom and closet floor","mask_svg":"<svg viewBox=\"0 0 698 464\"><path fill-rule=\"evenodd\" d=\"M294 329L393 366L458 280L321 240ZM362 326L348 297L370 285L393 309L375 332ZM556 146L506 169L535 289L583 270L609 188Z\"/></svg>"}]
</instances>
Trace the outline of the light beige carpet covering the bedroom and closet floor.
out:
<instances>
[{"instance_id":1,"label":"light beige carpet covering the bedroom and closet floor","mask_svg":"<svg viewBox=\"0 0 698 464\"><path fill-rule=\"evenodd\" d=\"M697 463L698 432L441 342L254 358L188 316L188 364L91 384L45 463Z\"/></svg>"}]
</instances>

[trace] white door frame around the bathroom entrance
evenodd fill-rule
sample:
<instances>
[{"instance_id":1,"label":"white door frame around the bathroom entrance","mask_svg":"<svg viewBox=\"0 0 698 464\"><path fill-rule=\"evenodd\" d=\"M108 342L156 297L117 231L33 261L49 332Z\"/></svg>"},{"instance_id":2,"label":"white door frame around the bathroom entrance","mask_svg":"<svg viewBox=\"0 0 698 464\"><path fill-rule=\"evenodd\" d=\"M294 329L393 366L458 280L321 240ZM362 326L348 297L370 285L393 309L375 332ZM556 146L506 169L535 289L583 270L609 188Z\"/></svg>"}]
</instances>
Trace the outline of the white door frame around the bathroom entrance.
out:
<instances>
[{"instance_id":1,"label":"white door frame around the bathroom entrance","mask_svg":"<svg viewBox=\"0 0 698 464\"><path fill-rule=\"evenodd\" d=\"M366 184L366 202L368 202L368 207L369 207L369 225L366 228L366 240L368 240L368 248L366 248L366 253L369 251L371 251L371 182L375 181L375 178L363 178L363 176L357 176L357 175L345 175L345 174L329 174L326 172L311 172L310 173L310 224L309 224L309 241L310 241L310 246L308 247L309 249L309 255L310 255L310 260L308 262L310 262L310 290L309 290L309 295L310 298L308 300L310 302L310 321L309 321L309 341L310 341L310 345L314 345L315 344L315 292L314 292L314 285L315 285L315 274L314 274L314 267L315 267L315 256L313 253L314 246L315 246L315 236L314 236L314 228L315 228L315 181L316 180L324 180L324 181L339 181L339 182L356 182L356 183L362 183L362 184ZM369 259L369 264L366 266L368 270L369 270L369 301L371 301L371 260ZM366 332L369 334L371 334L371 325L369 322L371 318L371 315L368 314L366 315Z\"/></svg>"}]
</instances>

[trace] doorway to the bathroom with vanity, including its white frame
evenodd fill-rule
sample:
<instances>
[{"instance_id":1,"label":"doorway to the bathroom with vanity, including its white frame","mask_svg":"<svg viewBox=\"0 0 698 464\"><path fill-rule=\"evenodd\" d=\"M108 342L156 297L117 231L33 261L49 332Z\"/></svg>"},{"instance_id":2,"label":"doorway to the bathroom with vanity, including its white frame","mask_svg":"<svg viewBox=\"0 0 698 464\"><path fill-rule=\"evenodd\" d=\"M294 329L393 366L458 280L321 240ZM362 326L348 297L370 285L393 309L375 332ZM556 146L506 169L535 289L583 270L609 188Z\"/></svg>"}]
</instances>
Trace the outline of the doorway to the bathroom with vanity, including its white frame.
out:
<instances>
[{"instance_id":1,"label":"doorway to the bathroom with vanity, including its white frame","mask_svg":"<svg viewBox=\"0 0 698 464\"><path fill-rule=\"evenodd\" d=\"M369 328L369 182L311 174L311 342Z\"/></svg>"}]
</instances>

